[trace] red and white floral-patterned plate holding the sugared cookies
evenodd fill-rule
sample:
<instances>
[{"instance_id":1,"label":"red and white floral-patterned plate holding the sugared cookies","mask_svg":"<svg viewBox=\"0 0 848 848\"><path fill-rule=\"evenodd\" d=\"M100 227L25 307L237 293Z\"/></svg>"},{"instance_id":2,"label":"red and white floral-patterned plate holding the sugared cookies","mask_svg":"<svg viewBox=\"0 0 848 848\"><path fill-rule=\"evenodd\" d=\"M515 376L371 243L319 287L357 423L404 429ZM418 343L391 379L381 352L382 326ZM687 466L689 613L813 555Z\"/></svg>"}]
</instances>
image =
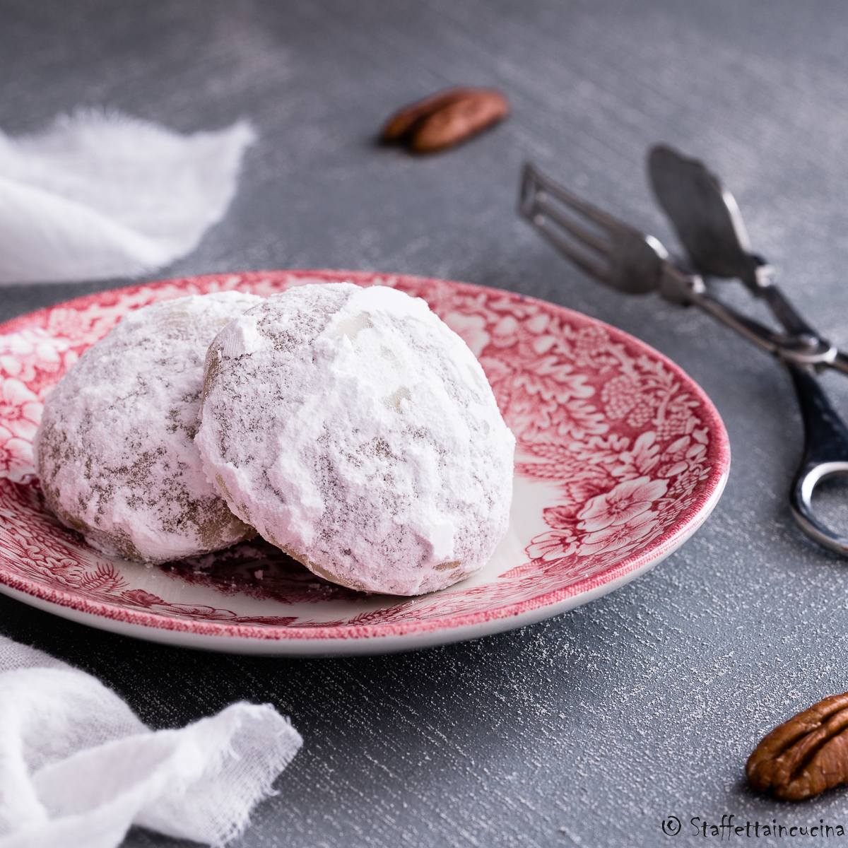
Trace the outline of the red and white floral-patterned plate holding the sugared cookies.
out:
<instances>
[{"instance_id":1,"label":"red and white floral-patterned plate holding the sugared cookies","mask_svg":"<svg viewBox=\"0 0 848 848\"><path fill-rule=\"evenodd\" d=\"M42 505L42 400L131 310L226 289L311 282L424 298L483 365L516 435L510 527L491 561L416 598L334 586L269 544L167 566L110 558ZM251 271L92 294L0 325L0 591L75 622L192 648L378 654L555 616L648 571L716 505L730 463L709 398L671 360L586 315L460 282L360 271Z\"/></svg>"}]
</instances>

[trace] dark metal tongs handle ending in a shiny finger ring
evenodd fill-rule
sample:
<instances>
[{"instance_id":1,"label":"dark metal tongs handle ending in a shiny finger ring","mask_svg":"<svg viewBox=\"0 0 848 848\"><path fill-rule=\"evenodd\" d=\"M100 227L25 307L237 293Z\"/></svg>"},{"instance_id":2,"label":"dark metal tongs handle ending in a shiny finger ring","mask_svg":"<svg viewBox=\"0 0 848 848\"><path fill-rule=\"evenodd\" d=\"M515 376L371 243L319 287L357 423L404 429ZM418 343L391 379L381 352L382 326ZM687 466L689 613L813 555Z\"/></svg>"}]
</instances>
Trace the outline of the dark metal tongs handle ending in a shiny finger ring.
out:
<instances>
[{"instance_id":1,"label":"dark metal tongs handle ending in a shiny finger ring","mask_svg":"<svg viewBox=\"0 0 848 848\"><path fill-rule=\"evenodd\" d=\"M812 493L828 477L848 477L848 428L830 405L812 367L782 360L804 419L804 455L789 490L789 506L801 529L818 544L848 556L848 537L825 527L812 512Z\"/></svg>"}]
</instances>

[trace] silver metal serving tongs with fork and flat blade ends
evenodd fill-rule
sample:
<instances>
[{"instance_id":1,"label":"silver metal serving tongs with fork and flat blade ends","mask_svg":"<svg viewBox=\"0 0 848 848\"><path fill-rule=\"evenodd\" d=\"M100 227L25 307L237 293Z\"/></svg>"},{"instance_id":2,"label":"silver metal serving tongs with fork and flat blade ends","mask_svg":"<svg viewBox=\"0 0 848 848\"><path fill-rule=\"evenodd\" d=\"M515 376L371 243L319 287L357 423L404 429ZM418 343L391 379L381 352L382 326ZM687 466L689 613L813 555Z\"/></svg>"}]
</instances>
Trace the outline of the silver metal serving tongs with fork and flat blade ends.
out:
<instances>
[{"instance_id":1,"label":"silver metal serving tongs with fork and flat blade ends","mask_svg":"<svg viewBox=\"0 0 848 848\"><path fill-rule=\"evenodd\" d=\"M695 304L780 360L795 387L804 420L804 455L789 490L801 530L818 544L848 556L848 537L812 512L812 492L828 477L848 477L848 428L816 375L825 368L848 374L848 356L821 338L774 283L774 270L754 254L733 195L696 159L657 146L648 155L656 199L686 249L674 259L653 236L623 224L577 198L533 165L522 176L519 211L589 276L628 294L659 291L675 304ZM704 276L736 277L767 304L784 328L775 332L711 293Z\"/></svg>"}]
</instances>

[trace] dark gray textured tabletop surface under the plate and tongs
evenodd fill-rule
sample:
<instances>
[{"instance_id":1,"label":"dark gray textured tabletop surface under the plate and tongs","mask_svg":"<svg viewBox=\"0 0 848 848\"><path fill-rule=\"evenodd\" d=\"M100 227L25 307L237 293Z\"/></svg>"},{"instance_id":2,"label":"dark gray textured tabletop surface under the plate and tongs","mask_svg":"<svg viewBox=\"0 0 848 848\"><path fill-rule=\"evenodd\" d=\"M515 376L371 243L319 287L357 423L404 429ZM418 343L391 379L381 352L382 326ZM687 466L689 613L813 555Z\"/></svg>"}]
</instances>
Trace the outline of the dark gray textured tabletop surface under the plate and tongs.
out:
<instances>
[{"instance_id":1,"label":"dark gray textured tabletop surface under the plate and tongs","mask_svg":"<svg viewBox=\"0 0 848 848\"><path fill-rule=\"evenodd\" d=\"M846 42L844 4L789 0L2 0L4 131L78 104L181 131L239 116L258 127L226 220L157 276L347 267L548 298L689 371L724 417L734 465L710 521L654 572L475 643L209 656L5 598L0 630L98 674L157 727L242 698L290 714L304 749L237 845L691 844L689 818L722 813L848 829L848 790L787 806L752 795L742 772L767 729L848 689L848 563L808 543L786 503L801 447L788 383L706 317L595 287L514 213L533 159L671 243L642 164L650 143L671 142L723 176L789 296L845 345ZM399 104L466 82L505 89L510 121L432 159L373 145ZM118 282L0 290L0 317ZM848 410L840 382L826 384ZM674 839L660 829L669 814L684 822Z\"/></svg>"}]
</instances>

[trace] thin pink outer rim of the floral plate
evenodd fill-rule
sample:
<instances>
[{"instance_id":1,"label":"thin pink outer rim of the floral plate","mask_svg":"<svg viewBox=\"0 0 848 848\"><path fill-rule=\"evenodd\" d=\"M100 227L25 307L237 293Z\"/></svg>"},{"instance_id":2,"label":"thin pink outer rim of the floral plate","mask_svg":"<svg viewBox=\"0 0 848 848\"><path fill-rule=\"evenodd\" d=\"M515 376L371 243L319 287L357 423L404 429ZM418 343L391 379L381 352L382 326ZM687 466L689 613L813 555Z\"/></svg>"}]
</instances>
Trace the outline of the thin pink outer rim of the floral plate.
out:
<instances>
[{"instance_id":1,"label":"thin pink outer rim of the floral plate","mask_svg":"<svg viewBox=\"0 0 848 848\"><path fill-rule=\"evenodd\" d=\"M131 286L123 286L112 289L103 289L100 292L81 295L78 298L62 301L57 304L43 307L40 310L34 310L25 315L18 315L9 321L0 324L0 335L7 335L12 332L19 332L25 326L32 326L39 316L49 314L50 310L59 309L62 307L82 306L88 303L96 302L97 298L102 298L103 295L109 293L129 293L133 290L141 288L156 288L167 287L175 283L185 285L188 282L202 282L213 279L220 279L222 276L249 276L256 277L265 274L287 274L294 277L310 277L321 276L332 280L349 280L351 282L366 282L373 280L375 277L382 279L393 278L410 280L418 284L446 284L449 287L460 287L468 291L476 293L499 293L506 298L515 298L522 303L541 304L546 310L556 310L561 313L566 319L571 316L577 316L580 321L590 321L595 326L602 327L605 332L609 332L611 338L616 342L635 344L639 349L644 351L659 360L662 365L670 369L676 377L681 378L686 382L695 393L700 402L700 412L704 414L710 425L711 437L717 439L717 454L716 461L711 467L710 475L706 481L704 488L700 491L695 500L695 503L688 510L688 517L685 521L679 522L672 533L658 541L657 544L650 544L646 549L634 552L621 562L616 563L610 569L602 572L600 575L585 577L582 580L572 583L560 589L553 589L550 592L539 594L533 598L518 601L513 604L505 604L492 609L468 612L455 613L449 616L427 619L423 621L407 621L407 622L385 622L382 624L365 624L365 625L338 625L332 627L282 627L280 625L255 625L255 624L235 624L226 622L201 621L198 619L181 618L176 615L165 615L151 611L138 610L134 608L124 607L120 605L109 604L103 601L88 600L77 594L64 592L59 589L53 589L44 586L42 583L37 583L27 577L20 577L15 574L6 572L2 562L0 562L0 592L4 589L11 589L14 596L19 600L24 600L26 597L37 599L42 604L58 607L57 614L63 617L70 616L71 611L75 611L83 616L93 616L96 621L90 622L92 626L97 627L97 622L114 622L118 626L128 626L135 629L134 626L145 628L148 631L161 633L166 631L173 634L194 635L202 639L213 640L213 643L223 637L227 640L226 645L220 645L218 650L232 650L232 640L243 644L267 644L269 642L282 646L285 644L315 644L315 653L321 653L321 646L325 649L328 645L352 644L361 639L393 639L405 638L407 641L417 641L412 639L414 636L426 637L438 632L449 634L455 632L457 628L482 628L486 633L495 633L499 630L510 629L497 627L498 622L503 622L505 619L527 618L526 622L516 622L515 627L522 626L523 623L540 621L545 617L554 616L562 611L572 609L577 605L594 598L600 597L607 592L617 589L623 583L629 582L629 579L638 577L639 574L650 570L650 567L656 565L674 550L677 550L703 522L709 517L711 511L715 507L722 495L725 484L728 479L730 467L730 444L727 429L724 427L722 417L719 415L715 404L712 403L709 396L703 388L695 382L692 377L683 371L683 369L673 360L669 359L659 350L652 348L648 343L645 343L639 338L630 335L616 326L607 324L605 321L600 321L591 315L585 315L576 310L571 310L566 306L554 304L550 301L534 298L530 295L522 293L510 292L506 289L499 289L488 286L481 286L477 283L459 282L453 280L444 280L438 277L420 276L414 274L394 274L382 271L344 271L338 269L268 269L264 271L219 271L211 274L200 274L184 277L170 277L167 279L156 280L153 282L136 283ZM574 319L572 319L573 321ZM665 534L664 534L665 535ZM622 579L628 578L628 579ZM4 594L12 594L12 592L4 592ZM25 595L24 598L21 595ZM580 596L585 596L584 600L577 600ZM573 604L568 604L569 601L575 600ZM39 606L42 606L40 604ZM42 606L42 608L44 608ZM534 615L544 609L550 609L550 613L546 615ZM66 612L65 612L66 611ZM75 616L73 616L75 617ZM112 628L106 628L112 629ZM485 635L479 633L478 635ZM137 634L140 638L144 638L142 634ZM474 635L460 636L460 639L476 638ZM163 639L155 639L155 641L164 641ZM447 641L455 641L455 639L431 640L424 639L427 644L422 644L421 647L427 647L430 644L444 644ZM215 644L209 645L192 645L192 647L209 647L215 650ZM410 648L414 648L410 644ZM387 650L404 650L403 646L388 648ZM264 651L263 651L264 652ZM283 650L280 653L284 652ZM326 652L326 651L325 651ZM338 653L338 651L330 651ZM359 651L357 651L359 652ZM376 651L375 651L376 652ZM306 651L297 650L298 654L305 654Z\"/></svg>"}]
</instances>

